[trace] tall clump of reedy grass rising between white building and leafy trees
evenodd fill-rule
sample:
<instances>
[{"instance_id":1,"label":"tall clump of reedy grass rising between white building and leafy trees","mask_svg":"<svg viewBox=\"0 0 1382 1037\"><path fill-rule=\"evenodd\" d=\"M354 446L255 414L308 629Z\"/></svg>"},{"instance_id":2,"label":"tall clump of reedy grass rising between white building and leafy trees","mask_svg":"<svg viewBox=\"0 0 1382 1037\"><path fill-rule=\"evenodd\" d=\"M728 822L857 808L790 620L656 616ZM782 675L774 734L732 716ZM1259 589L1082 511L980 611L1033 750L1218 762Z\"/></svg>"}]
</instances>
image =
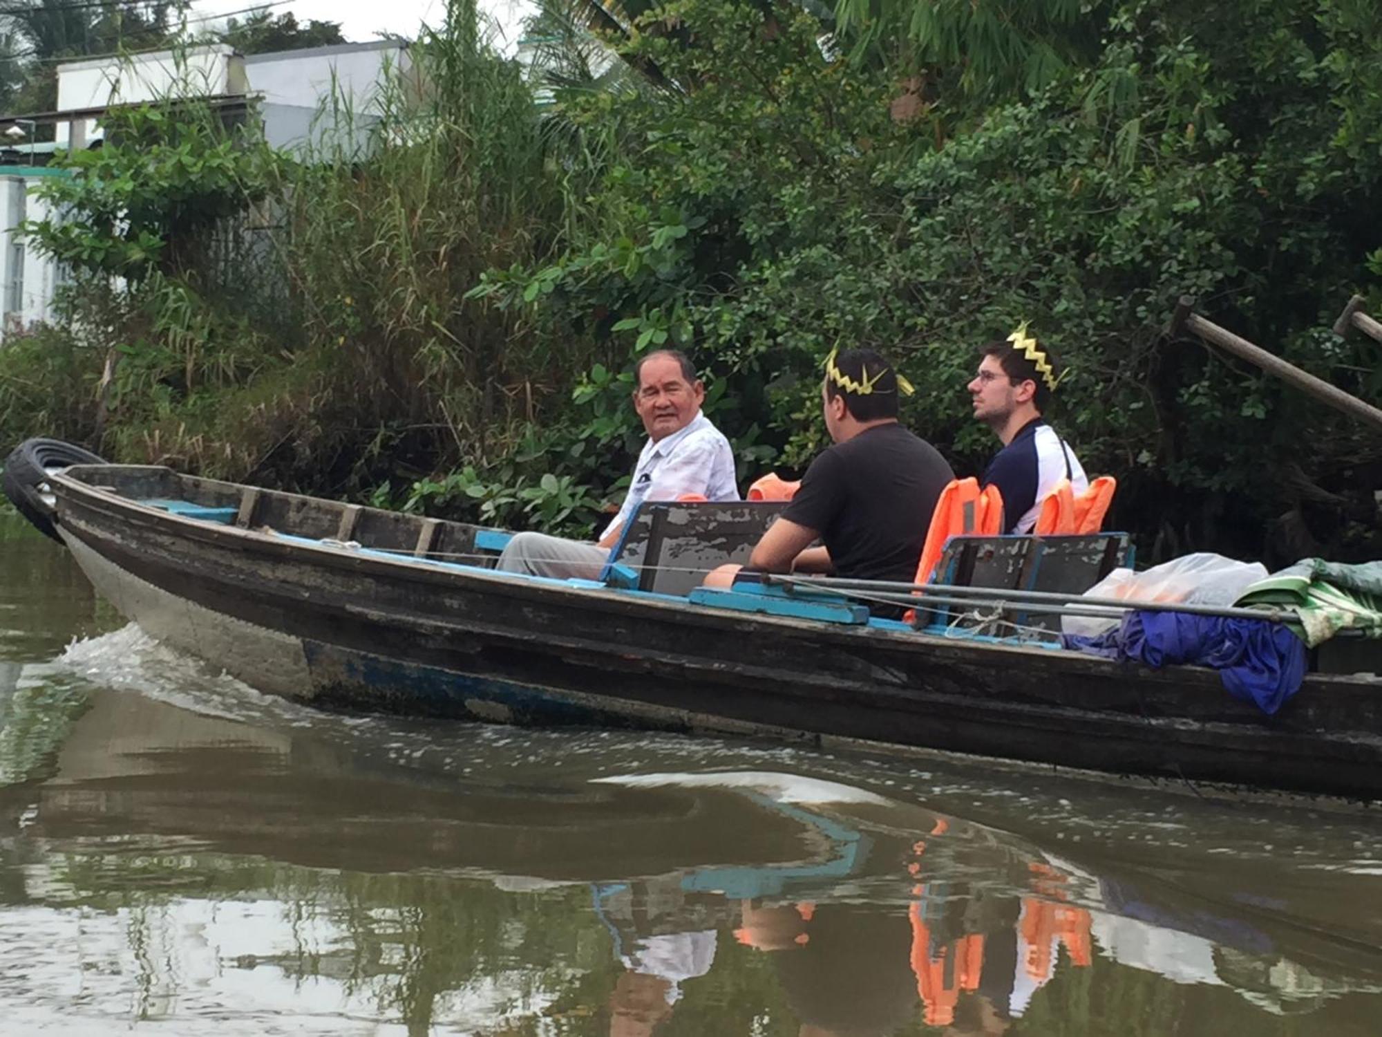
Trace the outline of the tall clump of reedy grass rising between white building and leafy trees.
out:
<instances>
[{"instance_id":1,"label":"tall clump of reedy grass rising between white building and leafy trees","mask_svg":"<svg viewBox=\"0 0 1382 1037\"><path fill-rule=\"evenodd\" d=\"M554 250L569 171L518 66L481 26L474 1L456 0L375 105L337 94L283 187L303 329L355 413L415 452L430 442L475 460L504 451L587 359L464 297L485 270Z\"/></svg>"}]
</instances>

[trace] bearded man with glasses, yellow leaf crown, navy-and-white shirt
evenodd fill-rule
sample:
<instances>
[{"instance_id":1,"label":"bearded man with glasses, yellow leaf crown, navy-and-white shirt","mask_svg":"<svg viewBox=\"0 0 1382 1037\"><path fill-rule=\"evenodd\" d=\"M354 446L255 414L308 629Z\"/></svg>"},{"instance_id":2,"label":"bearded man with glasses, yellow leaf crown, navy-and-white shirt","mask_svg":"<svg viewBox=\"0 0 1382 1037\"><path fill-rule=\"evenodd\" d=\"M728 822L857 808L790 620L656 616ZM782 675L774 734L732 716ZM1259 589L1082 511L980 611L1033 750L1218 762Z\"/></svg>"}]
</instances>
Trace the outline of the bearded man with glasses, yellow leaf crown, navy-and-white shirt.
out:
<instances>
[{"instance_id":1,"label":"bearded man with glasses, yellow leaf crown, navy-and-white shirt","mask_svg":"<svg viewBox=\"0 0 1382 1037\"><path fill-rule=\"evenodd\" d=\"M1061 478L1070 480L1077 496L1089 489L1075 452L1042 418L1060 384L1060 365L1025 324L981 346L978 354L978 373L969 383L974 418L1003 444L981 481L1003 495L1003 532L1028 534Z\"/></svg>"}]
</instances>

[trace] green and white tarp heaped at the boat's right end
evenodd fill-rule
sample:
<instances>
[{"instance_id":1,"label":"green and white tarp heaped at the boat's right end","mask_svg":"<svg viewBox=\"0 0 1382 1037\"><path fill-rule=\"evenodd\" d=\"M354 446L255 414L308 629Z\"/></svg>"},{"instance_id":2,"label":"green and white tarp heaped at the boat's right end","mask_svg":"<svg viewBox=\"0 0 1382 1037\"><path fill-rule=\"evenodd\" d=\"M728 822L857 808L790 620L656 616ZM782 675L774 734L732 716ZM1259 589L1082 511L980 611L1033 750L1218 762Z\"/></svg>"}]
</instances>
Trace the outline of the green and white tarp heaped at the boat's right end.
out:
<instances>
[{"instance_id":1,"label":"green and white tarp heaped at the boat's right end","mask_svg":"<svg viewBox=\"0 0 1382 1037\"><path fill-rule=\"evenodd\" d=\"M1294 608L1300 622L1292 628L1312 648L1339 630L1382 637L1382 561L1305 559L1251 583L1234 604Z\"/></svg>"}]
</instances>

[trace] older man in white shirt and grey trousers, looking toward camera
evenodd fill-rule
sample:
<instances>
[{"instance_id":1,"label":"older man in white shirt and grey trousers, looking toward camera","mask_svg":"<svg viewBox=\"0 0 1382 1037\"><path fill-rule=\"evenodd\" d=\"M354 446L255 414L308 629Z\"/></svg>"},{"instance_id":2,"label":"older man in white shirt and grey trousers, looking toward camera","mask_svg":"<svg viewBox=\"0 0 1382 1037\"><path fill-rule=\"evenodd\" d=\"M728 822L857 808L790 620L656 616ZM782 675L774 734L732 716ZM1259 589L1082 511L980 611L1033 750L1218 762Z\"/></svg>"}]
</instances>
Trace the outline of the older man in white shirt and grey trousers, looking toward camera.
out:
<instances>
[{"instance_id":1,"label":"older man in white shirt and grey trousers, looking toward camera","mask_svg":"<svg viewBox=\"0 0 1382 1037\"><path fill-rule=\"evenodd\" d=\"M499 556L502 572L557 579L597 579L619 532L644 501L676 501L699 495L708 501L738 501L734 451L710 419L701 413L705 386L691 361L677 350L650 353L633 369L633 409L643 419L648 442L638 455L629 494L598 542L567 541L540 532L520 532Z\"/></svg>"}]
</instances>

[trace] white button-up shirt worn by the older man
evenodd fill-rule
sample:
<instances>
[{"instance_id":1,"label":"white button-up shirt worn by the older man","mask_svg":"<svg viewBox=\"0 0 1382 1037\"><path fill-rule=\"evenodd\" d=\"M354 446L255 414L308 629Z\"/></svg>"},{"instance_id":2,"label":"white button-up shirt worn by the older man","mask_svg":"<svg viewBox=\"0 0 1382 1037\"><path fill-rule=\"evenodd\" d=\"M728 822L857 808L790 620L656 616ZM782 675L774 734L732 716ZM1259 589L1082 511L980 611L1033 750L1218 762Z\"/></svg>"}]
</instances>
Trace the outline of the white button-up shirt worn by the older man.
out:
<instances>
[{"instance_id":1,"label":"white button-up shirt worn by the older man","mask_svg":"<svg viewBox=\"0 0 1382 1037\"><path fill-rule=\"evenodd\" d=\"M739 499L730 441L699 411L680 431L644 444L629 494L600 539L623 525L644 501L676 501L688 494L708 501Z\"/></svg>"}]
</instances>

